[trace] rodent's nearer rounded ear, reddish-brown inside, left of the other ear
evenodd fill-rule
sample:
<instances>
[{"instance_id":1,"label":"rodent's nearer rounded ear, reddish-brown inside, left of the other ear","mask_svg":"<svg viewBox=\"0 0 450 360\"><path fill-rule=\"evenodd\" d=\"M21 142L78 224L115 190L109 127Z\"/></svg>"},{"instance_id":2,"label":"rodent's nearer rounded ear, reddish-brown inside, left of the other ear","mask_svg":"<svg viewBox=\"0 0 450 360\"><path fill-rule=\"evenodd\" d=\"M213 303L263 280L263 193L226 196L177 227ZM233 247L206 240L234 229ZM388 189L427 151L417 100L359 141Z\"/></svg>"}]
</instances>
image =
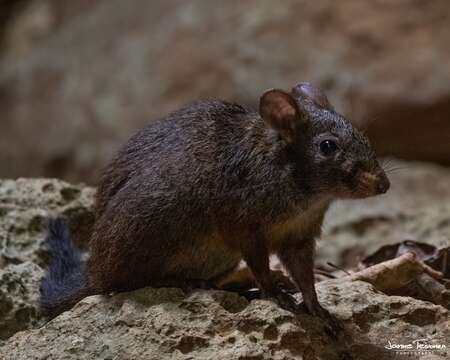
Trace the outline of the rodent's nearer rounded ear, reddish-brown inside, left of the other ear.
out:
<instances>
[{"instance_id":1,"label":"rodent's nearer rounded ear, reddish-brown inside, left of the other ear","mask_svg":"<svg viewBox=\"0 0 450 360\"><path fill-rule=\"evenodd\" d=\"M267 90L259 99L259 114L287 143L306 125L297 101L283 90Z\"/></svg>"}]
</instances>

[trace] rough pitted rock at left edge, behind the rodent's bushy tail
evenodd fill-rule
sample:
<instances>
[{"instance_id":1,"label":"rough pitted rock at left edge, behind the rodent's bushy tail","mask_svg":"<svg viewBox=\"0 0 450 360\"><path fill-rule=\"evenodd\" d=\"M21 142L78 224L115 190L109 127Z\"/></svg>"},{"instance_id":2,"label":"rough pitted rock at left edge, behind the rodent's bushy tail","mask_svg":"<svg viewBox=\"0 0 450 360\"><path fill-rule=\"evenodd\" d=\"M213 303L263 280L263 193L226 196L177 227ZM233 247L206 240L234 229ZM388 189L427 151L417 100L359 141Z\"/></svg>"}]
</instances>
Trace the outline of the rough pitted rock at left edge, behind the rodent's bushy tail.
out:
<instances>
[{"instance_id":1,"label":"rough pitted rock at left edge, behind the rodent's bushy tail","mask_svg":"<svg viewBox=\"0 0 450 360\"><path fill-rule=\"evenodd\" d=\"M54 179L0 180L0 341L40 323L36 300L48 262L46 219L64 217L81 231L76 238L83 245L93 222L93 194Z\"/></svg>"}]
</instances>

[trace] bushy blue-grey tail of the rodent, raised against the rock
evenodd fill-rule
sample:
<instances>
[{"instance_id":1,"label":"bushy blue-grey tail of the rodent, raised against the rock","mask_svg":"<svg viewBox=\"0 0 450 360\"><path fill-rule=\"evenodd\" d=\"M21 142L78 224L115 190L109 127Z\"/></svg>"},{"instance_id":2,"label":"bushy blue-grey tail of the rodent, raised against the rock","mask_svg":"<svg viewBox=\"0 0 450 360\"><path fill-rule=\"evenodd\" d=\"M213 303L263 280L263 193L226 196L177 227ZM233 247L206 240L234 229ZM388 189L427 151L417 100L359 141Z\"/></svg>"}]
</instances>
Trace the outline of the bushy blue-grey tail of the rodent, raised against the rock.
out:
<instances>
[{"instance_id":1,"label":"bushy blue-grey tail of the rodent, raised against the rock","mask_svg":"<svg viewBox=\"0 0 450 360\"><path fill-rule=\"evenodd\" d=\"M88 295L86 261L61 219L50 220L46 241L52 260L42 279L40 308L46 316L54 317Z\"/></svg>"}]
</instances>

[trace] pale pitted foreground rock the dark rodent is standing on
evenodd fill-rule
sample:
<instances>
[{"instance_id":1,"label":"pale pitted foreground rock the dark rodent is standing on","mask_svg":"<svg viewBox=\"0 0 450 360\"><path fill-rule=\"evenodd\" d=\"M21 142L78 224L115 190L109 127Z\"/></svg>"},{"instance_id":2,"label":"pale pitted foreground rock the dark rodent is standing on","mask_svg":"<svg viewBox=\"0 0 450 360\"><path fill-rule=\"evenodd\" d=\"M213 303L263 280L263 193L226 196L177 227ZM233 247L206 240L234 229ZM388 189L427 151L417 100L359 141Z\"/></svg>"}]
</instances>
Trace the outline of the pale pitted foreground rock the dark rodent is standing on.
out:
<instances>
[{"instance_id":1,"label":"pale pitted foreground rock the dark rodent is standing on","mask_svg":"<svg viewBox=\"0 0 450 360\"><path fill-rule=\"evenodd\" d=\"M387 341L450 336L439 306L374 292L367 283L319 287L346 327L333 341L307 315L227 292L141 289L81 301L44 327L0 348L5 359L392 359ZM436 329L440 329L436 331ZM448 352L435 352L445 359Z\"/></svg>"}]
</instances>

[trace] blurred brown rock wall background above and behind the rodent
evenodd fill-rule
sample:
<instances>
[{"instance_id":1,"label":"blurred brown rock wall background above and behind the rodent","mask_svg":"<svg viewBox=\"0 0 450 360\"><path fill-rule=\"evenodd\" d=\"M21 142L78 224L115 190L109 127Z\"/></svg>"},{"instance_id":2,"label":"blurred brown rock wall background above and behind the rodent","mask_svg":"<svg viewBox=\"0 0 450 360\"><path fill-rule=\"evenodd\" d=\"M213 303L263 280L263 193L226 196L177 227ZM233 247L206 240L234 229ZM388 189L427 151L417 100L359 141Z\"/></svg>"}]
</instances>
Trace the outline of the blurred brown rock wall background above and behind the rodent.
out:
<instances>
[{"instance_id":1,"label":"blurred brown rock wall background above and behind the rodent","mask_svg":"<svg viewBox=\"0 0 450 360\"><path fill-rule=\"evenodd\" d=\"M0 177L95 183L193 99L322 86L382 154L450 164L447 0L0 0Z\"/></svg>"}]
</instances>

